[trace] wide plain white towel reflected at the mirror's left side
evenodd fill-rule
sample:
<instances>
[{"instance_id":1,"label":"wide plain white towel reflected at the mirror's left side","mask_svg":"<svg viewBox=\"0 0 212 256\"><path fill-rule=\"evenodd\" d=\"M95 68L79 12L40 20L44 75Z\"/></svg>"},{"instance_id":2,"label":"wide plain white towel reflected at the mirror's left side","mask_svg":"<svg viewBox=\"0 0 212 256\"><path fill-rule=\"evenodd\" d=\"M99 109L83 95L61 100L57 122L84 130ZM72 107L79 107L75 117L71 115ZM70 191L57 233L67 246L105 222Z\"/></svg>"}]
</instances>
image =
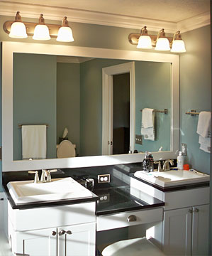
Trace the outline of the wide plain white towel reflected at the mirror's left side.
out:
<instances>
[{"instance_id":1,"label":"wide plain white towel reflected at the mirror's left side","mask_svg":"<svg viewBox=\"0 0 212 256\"><path fill-rule=\"evenodd\" d=\"M46 158L46 125L22 125L22 159Z\"/></svg>"}]
</instances>

